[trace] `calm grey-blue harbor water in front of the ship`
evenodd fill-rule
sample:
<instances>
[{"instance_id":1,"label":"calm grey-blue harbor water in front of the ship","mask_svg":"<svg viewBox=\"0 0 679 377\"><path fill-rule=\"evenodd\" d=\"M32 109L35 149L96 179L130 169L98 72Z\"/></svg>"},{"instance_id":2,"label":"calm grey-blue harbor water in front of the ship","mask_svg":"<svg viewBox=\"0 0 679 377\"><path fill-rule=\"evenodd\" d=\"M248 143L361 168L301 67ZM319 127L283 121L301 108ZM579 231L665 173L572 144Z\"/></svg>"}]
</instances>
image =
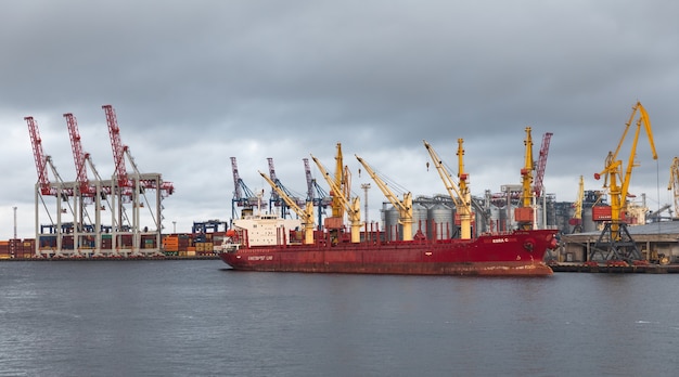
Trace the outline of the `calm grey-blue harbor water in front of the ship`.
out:
<instances>
[{"instance_id":1,"label":"calm grey-blue harbor water in front of the ship","mask_svg":"<svg viewBox=\"0 0 679 377\"><path fill-rule=\"evenodd\" d=\"M0 262L0 376L676 376L678 286Z\"/></svg>"}]
</instances>

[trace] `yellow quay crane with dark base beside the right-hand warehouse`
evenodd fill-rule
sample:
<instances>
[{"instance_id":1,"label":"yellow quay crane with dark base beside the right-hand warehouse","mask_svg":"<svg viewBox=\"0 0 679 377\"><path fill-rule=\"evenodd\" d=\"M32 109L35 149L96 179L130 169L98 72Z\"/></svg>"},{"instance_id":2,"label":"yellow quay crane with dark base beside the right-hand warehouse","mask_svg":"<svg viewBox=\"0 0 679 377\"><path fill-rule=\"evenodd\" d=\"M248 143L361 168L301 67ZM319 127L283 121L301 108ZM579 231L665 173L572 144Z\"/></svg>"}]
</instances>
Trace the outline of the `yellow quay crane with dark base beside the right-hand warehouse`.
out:
<instances>
[{"instance_id":1,"label":"yellow quay crane with dark base beside the right-hand warehouse","mask_svg":"<svg viewBox=\"0 0 679 377\"><path fill-rule=\"evenodd\" d=\"M639 119L637 120L635 136L631 143L631 151L629 154L629 159L627 161L627 168L625 170L625 174L623 174L623 161L618 159L618 153L620 152L620 147L625 142L625 136L631 127L635 117L639 113ZM651 145L651 152L653 154L653 159L657 160L657 153L655 151L655 143L653 141L653 131L651 130L651 120L649 118L649 114L645 108L641 105L640 102L637 102L632 106L632 113L629 116L629 120L625 123L625 131L623 132L623 136L618 142L618 145L615 152L608 152L608 155L605 159L604 169L594 173L594 178L597 180L601 179L604 176L604 188L608 188L608 195L611 196L611 222L604 225L604 230L599 237L598 245L606 245L608 255L604 256L606 259L617 259L625 261L633 261L641 260L641 252L637 248L637 244L631 239L629 232L627 231L627 224L622 221L623 213L627 207L627 194L629 188L629 182L632 173L632 168L639 166L635 162L635 157L637 155L637 144L639 141L639 134L641 133L641 125L646 132L646 136L649 139L649 144ZM607 235L607 237L606 237ZM604 240L607 238L606 240ZM590 252L590 260L594 257L597 252L601 252L601 247L595 247L592 252Z\"/></svg>"}]
</instances>

